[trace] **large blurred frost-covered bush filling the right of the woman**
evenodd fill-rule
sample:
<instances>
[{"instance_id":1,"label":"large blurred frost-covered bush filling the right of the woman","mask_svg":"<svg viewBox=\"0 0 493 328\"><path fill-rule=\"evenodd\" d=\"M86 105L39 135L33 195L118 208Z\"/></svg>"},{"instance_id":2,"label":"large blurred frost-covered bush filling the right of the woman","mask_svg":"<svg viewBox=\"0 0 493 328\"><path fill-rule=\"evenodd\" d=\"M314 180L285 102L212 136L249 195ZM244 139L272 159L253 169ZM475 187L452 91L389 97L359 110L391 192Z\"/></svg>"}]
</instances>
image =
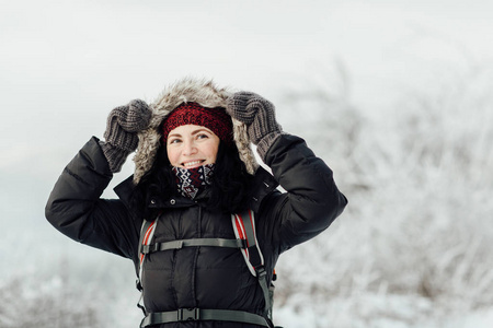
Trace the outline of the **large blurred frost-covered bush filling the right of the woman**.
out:
<instances>
[{"instance_id":1,"label":"large blurred frost-covered bush filling the right of the woman","mask_svg":"<svg viewBox=\"0 0 493 328\"><path fill-rule=\"evenodd\" d=\"M344 70L332 77L289 90L291 110L279 116L334 169L349 204L280 258L278 307L311 304L334 327L359 327L493 305L491 72L405 92L379 110L353 104Z\"/></svg>"}]
</instances>

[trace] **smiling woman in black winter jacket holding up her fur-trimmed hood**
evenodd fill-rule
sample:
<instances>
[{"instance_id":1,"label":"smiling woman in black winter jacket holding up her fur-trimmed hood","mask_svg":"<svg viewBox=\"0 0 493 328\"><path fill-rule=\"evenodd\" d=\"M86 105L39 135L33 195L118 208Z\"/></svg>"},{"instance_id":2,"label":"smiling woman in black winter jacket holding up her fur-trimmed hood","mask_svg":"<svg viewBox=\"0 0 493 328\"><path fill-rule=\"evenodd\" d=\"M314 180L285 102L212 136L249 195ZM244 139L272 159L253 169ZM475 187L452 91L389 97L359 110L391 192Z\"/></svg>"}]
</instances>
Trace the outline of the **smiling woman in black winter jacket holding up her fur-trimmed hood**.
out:
<instances>
[{"instance_id":1,"label":"smiling woman in black winter jacket holding up her fur-trimmed hood","mask_svg":"<svg viewBox=\"0 0 493 328\"><path fill-rule=\"evenodd\" d=\"M46 218L78 242L134 260L141 327L273 327L265 288L278 256L324 231L347 203L332 171L302 139L283 133L268 101L191 79L150 107L133 101L113 109L104 137L67 165ZM119 199L101 199L136 149L134 175L115 188ZM234 213L254 218L262 265L245 260L252 247L217 242L238 239ZM152 237L141 234L149 224ZM146 247L180 246L144 254L142 236Z\"/></svg>"}]
</instances>

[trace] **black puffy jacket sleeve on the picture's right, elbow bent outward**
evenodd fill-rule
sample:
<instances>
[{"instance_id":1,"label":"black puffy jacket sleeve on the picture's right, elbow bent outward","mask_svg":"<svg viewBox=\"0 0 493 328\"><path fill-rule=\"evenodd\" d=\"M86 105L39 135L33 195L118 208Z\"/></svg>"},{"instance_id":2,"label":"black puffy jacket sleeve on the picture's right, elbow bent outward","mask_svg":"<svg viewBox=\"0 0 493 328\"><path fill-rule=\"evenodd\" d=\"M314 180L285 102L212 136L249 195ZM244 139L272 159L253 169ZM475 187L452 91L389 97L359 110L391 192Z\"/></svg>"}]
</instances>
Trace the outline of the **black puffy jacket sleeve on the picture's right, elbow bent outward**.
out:
<instances>
[{"instance_id":1,"label":"black puffy jacket sleeve on the picture's right, elbow bent outward","mask_svg":"<svg viewBox=\"0 0 493 328\"><path fill-rule=\"evenodd\" d=\"M268 209L272 239L279 254L328 229L347 204L332 169L299 137L279 137L267 151L265 164L287 191L272 194L262 204Z\"/></svg>"}]
</instances>

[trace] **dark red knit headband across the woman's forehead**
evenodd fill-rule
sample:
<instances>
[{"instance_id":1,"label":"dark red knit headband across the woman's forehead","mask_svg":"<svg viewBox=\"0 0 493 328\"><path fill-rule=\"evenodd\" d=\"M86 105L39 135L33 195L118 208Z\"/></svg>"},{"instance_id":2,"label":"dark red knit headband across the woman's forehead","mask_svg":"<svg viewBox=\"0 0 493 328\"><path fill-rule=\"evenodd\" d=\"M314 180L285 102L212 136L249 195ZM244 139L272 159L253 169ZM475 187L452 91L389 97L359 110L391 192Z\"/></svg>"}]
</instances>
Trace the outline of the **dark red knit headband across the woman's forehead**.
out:
<instances>
[{"instance_id":1,"label":"dark red knit headband across the woman's forehead","mask_svg":"<svg viewBox=\"0 0 493 328\"><path fill-rule=\"evenodd\" d=\"M173 129L185 125L206 127L221 141L232 144L232 121L223 108L207 108L197 103L181 104L162 122L163 141Z\"/></svg>"}]
</instances>

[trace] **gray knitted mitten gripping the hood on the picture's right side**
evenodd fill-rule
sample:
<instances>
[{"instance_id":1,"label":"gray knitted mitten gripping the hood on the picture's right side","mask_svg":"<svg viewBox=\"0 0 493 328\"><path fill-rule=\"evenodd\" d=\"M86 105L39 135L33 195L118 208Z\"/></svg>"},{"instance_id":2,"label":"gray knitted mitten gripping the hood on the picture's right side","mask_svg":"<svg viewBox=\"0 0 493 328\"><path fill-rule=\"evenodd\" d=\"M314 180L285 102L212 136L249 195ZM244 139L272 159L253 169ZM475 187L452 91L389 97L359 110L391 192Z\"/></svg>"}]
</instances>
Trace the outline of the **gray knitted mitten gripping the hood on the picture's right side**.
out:
<instances>
[{"instance_id":1,"label":"gray knitted mitten gripping the hood on the picture's right side","mask_svg":"<svg viewBox=\"0 0 493 328\"><path fill-rule=\"evenodd\" d=\"M226 112L248 126L250 141L256 144L256 151L265 159L271 145L280 136L274 105L252 92L237 92L228 98Z\"/></svg>"}]
</instances>

